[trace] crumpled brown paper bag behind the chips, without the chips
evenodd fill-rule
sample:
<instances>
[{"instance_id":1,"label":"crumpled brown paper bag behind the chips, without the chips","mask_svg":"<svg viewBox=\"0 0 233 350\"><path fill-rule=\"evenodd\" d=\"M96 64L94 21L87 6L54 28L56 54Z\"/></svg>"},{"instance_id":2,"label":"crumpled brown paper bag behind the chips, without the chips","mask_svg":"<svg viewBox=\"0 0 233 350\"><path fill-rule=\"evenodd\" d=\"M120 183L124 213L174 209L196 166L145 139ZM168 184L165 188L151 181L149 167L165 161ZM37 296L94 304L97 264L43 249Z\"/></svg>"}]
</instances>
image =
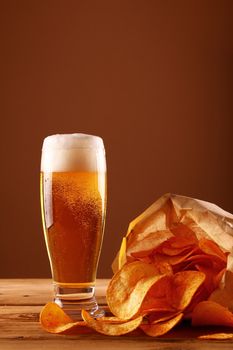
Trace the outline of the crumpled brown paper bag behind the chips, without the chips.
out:
<instances>
[{"instance_id":1,"label":"crumpled brown paper bag behind the chips, without the chips","mask_svg":"<svg viewBox=\"0 0 233 350\"><path fill-rule=\"evenodd\" d=\"M148 255L185 227L198 240L215 242L227 255L226 272L209 299L233 311L233 215L215 204L175 194L165 194L130 224L112 264L118 271L137 253Z\"/></svg>"}]
</instances>

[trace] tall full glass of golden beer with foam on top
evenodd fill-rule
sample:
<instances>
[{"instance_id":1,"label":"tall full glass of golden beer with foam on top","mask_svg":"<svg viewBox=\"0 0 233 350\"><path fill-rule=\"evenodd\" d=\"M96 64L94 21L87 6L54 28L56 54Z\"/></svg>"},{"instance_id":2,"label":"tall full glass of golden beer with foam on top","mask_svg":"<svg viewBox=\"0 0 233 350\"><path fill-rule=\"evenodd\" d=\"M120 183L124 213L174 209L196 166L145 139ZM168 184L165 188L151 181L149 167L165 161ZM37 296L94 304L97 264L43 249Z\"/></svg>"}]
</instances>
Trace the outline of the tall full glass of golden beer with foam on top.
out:
<instances>
[{"instance_id":1,"label":"tall full glass of golden beer with foam on top","mask_svg":"<svg viewBox=\"0 0 233 350\"><path fill-rule=\"evenodd\" d=\"M100 137L52 135L41 158L41 208L55 302L73 319L103 315L95 299L106 211L106 160Z\"/></svg>"}]
</instances>

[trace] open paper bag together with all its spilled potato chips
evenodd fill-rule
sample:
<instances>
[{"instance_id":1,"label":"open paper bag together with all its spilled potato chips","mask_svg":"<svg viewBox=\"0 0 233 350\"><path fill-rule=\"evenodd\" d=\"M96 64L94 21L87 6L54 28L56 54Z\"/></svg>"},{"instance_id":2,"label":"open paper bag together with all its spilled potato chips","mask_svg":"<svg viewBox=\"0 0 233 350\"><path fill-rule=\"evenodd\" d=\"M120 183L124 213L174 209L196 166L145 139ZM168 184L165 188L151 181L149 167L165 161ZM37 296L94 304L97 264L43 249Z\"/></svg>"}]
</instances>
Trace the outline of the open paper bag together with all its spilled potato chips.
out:
<instances>
[{"instance_id":1,"label":"open paper bag together with all its spilled potato chips","mask_svg":"<svg viewBox=\"0 0 233 350\"><path fill-rule=\"evenodd\" d=\"M157 201L130 224L123 238L114 262L116 272L106 293L113 316L95 319L83 310L83 321L73 322L55 303L49 303L40 315L44 329L60 334L93 329L106 335L122 335L140 328L157 337L182 319L191 319L193 326L233 327L233 274L229 267L232 251L228 249L231 234L233 239L233 226L230 231L228 224L231 219L233 222L233 216L223 220L223 211L216 214L216 208L213 212L206 209L205 202L193 204L195 200L189 198L185 202L187 197L176 196L176 202L172 195L161 198L159 204ZM216 215L221 216L221 220L217 217L216 229L210 214L215 221ZM230 238L220 246L220 240L214 237L221 225L222 239L226 234ZM224 225L228 225L227 229ZM232 337L232 333L221 333L201 338Z\"/></svg>"}]
</instances>

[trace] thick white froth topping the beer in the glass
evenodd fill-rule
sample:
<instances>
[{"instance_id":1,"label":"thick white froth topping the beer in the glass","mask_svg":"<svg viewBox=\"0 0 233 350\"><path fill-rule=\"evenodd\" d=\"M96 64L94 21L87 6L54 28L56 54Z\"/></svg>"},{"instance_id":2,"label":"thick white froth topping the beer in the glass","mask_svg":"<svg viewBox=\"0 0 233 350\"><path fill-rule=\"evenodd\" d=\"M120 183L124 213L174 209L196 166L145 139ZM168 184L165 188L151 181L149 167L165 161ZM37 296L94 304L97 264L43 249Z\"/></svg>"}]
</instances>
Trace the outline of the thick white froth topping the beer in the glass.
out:
<instances>
[{"instance_id":1,"label":"thick white froth topping the beer in the glass","mask_svg":"<svg viewBox=\"0 0 233 350\"><path fill-rule=\"evenodd\" d=\"M58 134L44 139L41 171L106 171L103 140L86 134Z\"/></svg>"}]
</instances>

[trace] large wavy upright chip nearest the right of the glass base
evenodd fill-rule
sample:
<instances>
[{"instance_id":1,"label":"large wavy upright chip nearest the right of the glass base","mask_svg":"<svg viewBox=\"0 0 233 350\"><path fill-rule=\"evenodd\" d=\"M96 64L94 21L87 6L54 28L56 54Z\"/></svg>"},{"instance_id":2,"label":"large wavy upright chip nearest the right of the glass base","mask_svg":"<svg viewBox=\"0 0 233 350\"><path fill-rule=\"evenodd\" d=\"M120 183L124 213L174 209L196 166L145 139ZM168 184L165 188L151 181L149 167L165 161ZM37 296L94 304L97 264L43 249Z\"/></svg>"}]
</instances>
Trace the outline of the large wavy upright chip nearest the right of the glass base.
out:
<instances>
[{"instance_id":1,"label":"large wavy upright chip nearest the right of the glass base","mask_svg":"<svg viewBox=\"0 0 233 350\"><path fill-rule=\"evenodd\" d=\"M111 312L122 320L132 318L151 286L164 275L141 261L125 264L112 278L106 298Z\"/></svg>"}]
</instances>

